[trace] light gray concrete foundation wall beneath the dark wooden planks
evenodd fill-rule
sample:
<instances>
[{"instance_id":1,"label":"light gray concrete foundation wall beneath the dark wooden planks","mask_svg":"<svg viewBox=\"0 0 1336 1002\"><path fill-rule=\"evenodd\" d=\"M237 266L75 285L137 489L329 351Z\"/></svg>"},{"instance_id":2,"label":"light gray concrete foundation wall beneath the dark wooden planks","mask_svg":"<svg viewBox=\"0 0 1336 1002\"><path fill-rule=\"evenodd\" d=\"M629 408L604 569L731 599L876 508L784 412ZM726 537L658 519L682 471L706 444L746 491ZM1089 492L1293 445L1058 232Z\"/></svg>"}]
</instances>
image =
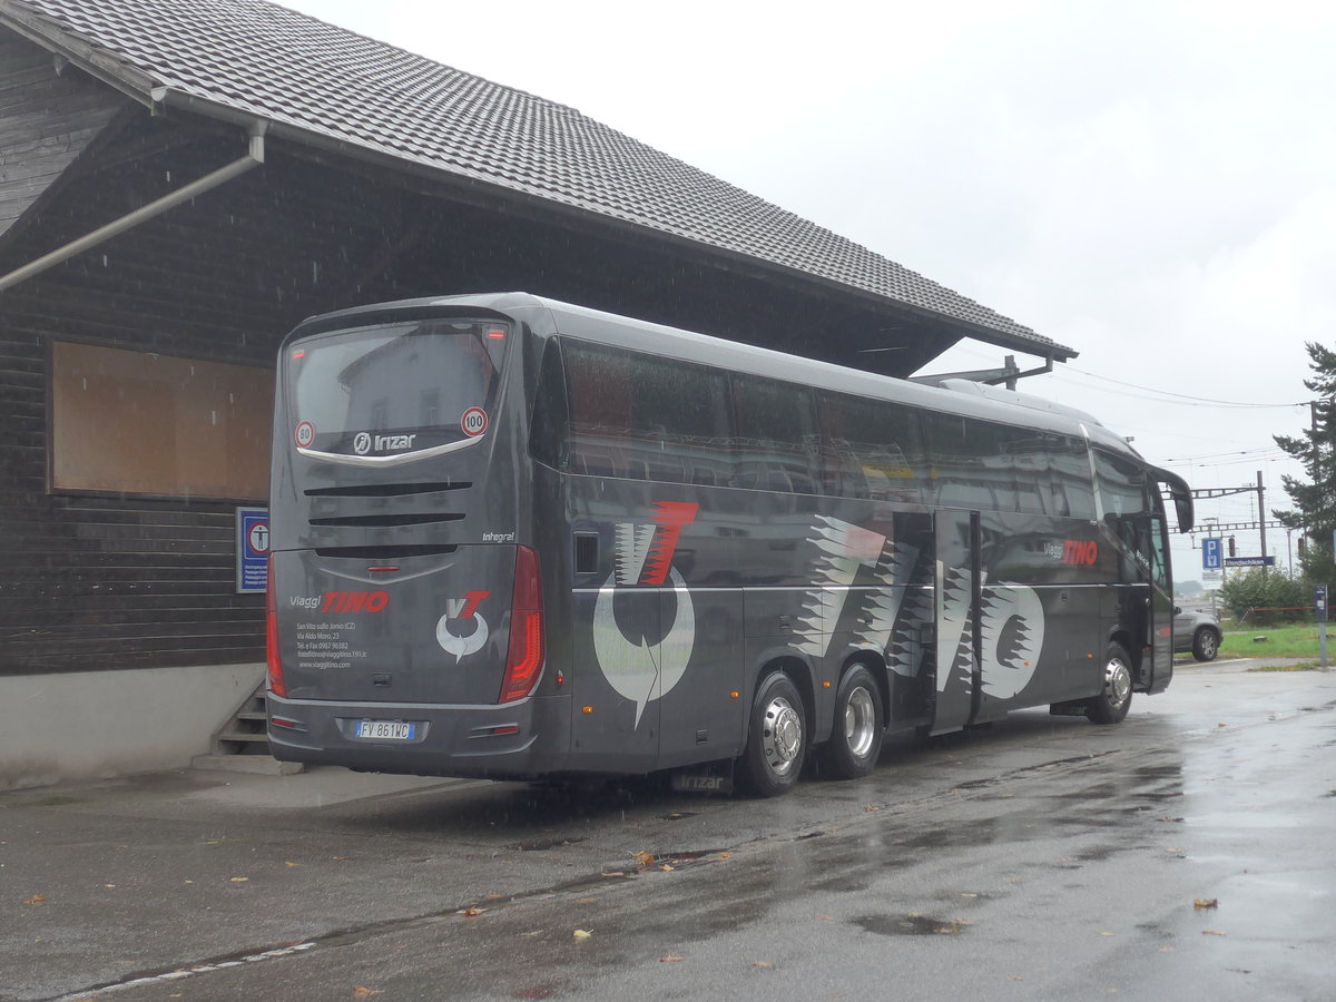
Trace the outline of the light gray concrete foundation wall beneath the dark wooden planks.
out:
<instances>
[{"instance_id":1,"label":"light gray concrete foundation wall beneath the dark wooden planks","mask_svg":"<svg viewBox=\"0 0 1336 1002\"><path fill-rule=\"evenodd\" d=\"M0 677L0 790L184 768L263 664Z\"/></svg>"}]
</instances>

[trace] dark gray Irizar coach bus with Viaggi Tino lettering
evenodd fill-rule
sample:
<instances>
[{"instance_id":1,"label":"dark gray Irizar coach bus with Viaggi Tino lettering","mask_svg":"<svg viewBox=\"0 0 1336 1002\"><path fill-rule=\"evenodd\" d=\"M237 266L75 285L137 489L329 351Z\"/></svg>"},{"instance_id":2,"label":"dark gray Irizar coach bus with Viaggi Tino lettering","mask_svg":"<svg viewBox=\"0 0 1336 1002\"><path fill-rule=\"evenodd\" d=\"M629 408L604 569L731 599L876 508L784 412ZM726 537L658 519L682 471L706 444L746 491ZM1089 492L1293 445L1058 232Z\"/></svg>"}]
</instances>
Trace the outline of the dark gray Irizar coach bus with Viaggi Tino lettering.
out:
<instances>
[{"instance_id":1,"label":"dark gray Irizar coach bus with Viaggi Tino lettering","mask_svg":"<svg viewBox=\"0 0 1336 1002\"><path fill-rule=\"evenodd\" d=\"M279 759L772 796L1173 673L1190 492L1037 398L510 293L306 321L274 420Z\"/></svg>"}]
</instances>

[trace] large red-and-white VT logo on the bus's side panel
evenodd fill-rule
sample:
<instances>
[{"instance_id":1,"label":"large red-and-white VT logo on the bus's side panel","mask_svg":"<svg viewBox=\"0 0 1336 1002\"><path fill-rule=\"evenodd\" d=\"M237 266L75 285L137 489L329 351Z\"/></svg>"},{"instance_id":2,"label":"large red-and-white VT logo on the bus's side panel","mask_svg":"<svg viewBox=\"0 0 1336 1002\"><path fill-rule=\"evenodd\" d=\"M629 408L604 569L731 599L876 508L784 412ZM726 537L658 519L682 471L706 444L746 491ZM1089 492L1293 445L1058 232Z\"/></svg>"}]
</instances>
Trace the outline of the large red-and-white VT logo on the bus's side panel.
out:
<instances>
[{"instance_id":1,"label":"large red-and-white VT logo on the bus's side panel","mask_svg":"<svg viewBox=\"0 0 1336 1002\"><path fill-rule=\"evenodd\" d=\"M649 700L681 681L696 645L696 611L672 560L697 510L693 502L659 501L647 521L619 522L616 569L595 601L595 657L608 684L636 704L636 727ZM659 591L669 581L669 592Z\"/></svg>"}]
</instances>

